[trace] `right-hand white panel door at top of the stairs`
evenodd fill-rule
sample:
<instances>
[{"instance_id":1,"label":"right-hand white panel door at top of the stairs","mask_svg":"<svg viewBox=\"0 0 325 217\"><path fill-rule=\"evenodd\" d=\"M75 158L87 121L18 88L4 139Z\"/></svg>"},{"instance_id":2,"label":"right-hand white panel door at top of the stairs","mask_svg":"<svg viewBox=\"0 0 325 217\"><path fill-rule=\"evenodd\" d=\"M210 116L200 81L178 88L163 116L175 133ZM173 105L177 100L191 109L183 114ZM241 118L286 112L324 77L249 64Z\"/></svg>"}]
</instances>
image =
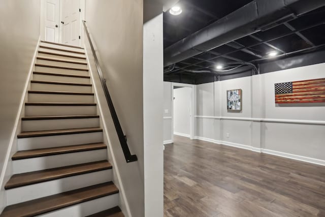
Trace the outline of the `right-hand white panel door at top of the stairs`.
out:
<instances>
[{"instance_id":1,"label":"right-hand white panel door at top of the stairs","mask_svg":"<svg viewBox=\"0 0 325 217\"><path fill-rule=\"evenodd\" d=\"M80 1L79 0L63 0L63 32L62 43L68 45L79 46L80 35Z\"/></svg>"}]
</instances>

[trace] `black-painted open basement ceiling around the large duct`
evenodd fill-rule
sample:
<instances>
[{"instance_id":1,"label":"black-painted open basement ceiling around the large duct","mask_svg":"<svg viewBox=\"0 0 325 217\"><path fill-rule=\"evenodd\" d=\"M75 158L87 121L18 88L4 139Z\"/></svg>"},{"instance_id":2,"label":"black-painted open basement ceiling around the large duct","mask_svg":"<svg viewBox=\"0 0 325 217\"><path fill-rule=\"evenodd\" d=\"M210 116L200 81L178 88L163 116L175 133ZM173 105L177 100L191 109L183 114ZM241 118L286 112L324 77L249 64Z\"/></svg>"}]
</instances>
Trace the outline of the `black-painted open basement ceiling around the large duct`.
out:
<instances>
[{"instance_id":1,"label":"black-painted open basement ceiling around the large duct","mask_svg":"<svg viewBox=\"0 0 325 217\"><path fill-rule=\"evenodd\" d=\"M252 0L179 1L178 5L182 8L182 14L173 16L169 11L164 13L164 48L186 38L192 33L197 32L250 2L252 2ZM204 77L208 77L209 79L207 81L211 82L211 77L214 80L217 79L216 77L218 76L218 72L211 75L211 73L207 71L214 69L217 64L224 65L224 69L231 69L235 66L231 64L232 62L244 61L258 67L258 64L270 60L265 58L268 57L268 53L271 51L277 51L278 55L285 54L282 57L279 57L283 58L287 55L298 54L295 52L299 50L312 52L324 49L324 24L308 28L307 30L286 37L278 38L280 35L295 32L297 29L308 27L323 20L325 20L325 7L318 8L317 10L311 11L298 18L291 17L290 21L283 22L271 29L257 32L231 43L211 49L210 51L203 52L197 56L182 60L175 65L172 71L164 74L164 79L166 81L184 83L202 83L200 80L204 81ZM241 47L250 46L259 41L266 40L271 41L249 47L246 50L238 50ZM230 54L222 55L225 53ZM249 66L243 66L234 71L222 72L222 74L239 73L250 69L251 67ZM202 73L198 73L198 71L202 71Z\"/></svg>"}]
</instances>

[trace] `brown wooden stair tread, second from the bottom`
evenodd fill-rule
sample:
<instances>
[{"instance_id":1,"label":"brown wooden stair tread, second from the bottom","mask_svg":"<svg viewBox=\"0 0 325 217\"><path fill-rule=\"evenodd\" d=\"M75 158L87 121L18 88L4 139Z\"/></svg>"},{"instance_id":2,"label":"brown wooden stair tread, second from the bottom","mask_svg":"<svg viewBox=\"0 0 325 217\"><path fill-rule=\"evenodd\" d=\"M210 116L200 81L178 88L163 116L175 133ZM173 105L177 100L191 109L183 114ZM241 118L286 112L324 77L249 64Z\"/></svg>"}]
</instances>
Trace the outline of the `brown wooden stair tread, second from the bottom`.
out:
<instances>
[{"instance_id":1,"label":"brown wooden stair tread, second from the bottom","mask_svg":"<svg viewBox=\"0 0 325 217\"><path fill-rule=\"evenodd\" d=\"M117 194L118 192L119 191L113 182L105 182L82 189L10 205L4 209L3 213L0 216L25 217L40 215L78 203Z\"/></svg>"}]
</instances>

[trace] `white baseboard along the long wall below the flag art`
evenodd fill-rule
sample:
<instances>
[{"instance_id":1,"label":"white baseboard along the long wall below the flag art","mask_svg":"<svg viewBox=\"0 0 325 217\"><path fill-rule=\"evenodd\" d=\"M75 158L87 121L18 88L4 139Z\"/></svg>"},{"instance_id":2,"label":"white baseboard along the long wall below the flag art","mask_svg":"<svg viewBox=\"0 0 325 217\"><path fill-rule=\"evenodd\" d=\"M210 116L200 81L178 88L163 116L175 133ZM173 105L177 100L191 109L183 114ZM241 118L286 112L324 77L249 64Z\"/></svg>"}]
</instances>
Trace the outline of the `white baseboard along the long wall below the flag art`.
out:
<instances>
[{"instance_id":1,"label":"white baseboard along the long wall below the flag art","mask_svg":"<svg viewBox=\"0 0 325 217\"><path fill-rule=\"evenodd\" d=\"M269 149L264 149L264 148L256 148L256 147L252 147L252 146L249 146L249 145L243 145L243 144L238 144L238 143L233 143L233 142L219 141L219 140L200 137L200 136L196 136L194 138L202 140L202 141L212 142L212 143L215 143L215 144L227 145L227 146L247 149L247 150L251 150L251 151L255 151L255 152L272 154L272 155L283 157L283 158L288 158L288 159L293 159L293 160L297 160L297 161L303 161L303 162L307 162L307 163L311 163L311 164L317 164L317 165L325 166L325 160L309 158L309 157L305 157L305 156L299 156L299 155L296 155L296 154L290 154L290 153L285 153L285 152L275 151L275 150L269 150Z\"/></svg>"}]
</instances>

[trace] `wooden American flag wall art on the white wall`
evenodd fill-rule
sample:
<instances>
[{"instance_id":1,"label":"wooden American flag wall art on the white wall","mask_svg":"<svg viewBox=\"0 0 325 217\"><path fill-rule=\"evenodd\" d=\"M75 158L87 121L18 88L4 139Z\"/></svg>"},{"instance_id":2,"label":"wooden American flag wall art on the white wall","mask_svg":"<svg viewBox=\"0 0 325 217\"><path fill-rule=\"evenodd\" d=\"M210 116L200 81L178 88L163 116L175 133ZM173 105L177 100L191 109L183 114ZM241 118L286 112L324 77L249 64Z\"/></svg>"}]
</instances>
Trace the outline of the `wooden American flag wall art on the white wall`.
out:
<instances>
[{"instance_id":1,"label":"wooden American flag wall art on the white wall","mask_svg":"<svg viewBox=\"0 0 325 217\"><path fill-rule=\"evenodd\" d=\"M325 78L275 84L275 103L324 103Z\"/></svg>"}]
</instances>

